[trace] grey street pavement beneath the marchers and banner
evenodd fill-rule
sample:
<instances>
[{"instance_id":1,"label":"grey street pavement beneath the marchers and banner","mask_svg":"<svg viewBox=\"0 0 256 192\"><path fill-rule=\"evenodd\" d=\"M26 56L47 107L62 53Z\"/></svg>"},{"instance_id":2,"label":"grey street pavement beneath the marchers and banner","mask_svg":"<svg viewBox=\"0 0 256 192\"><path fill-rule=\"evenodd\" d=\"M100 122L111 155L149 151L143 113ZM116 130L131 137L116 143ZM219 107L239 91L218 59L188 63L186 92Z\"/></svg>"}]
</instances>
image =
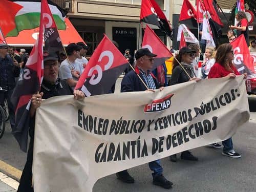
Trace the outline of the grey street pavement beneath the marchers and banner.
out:
<instances>
[{"instance_id":1,"label":"grey street pavement beneath the marchers and banner","mask_svg":"<svg viewBox=\"0 0 256 192\"><path fill-rule=\"evenodd\" d=\"M120 89L120 87L116 87ZM255 103L253 104L255 106ZM254 107L253 106L253 107ZM221 149L199 147L191 152L199 158L192 162L180 160L170 162L169 158L161 160L164 168L164 176L174 183L171 191L256 191L256 113L250 113L250 121L233 136L234 150L242 154L240 159L231 159L221 155ZM10 124L6 125L6 132L0 140L0 162L10 165L12 168L3 167L0 163L0 172L4 172L13 178L20 175L26 162L26 154L19 150L18 144L11 135ZM12 169L9 173L8 169ZM14 169L14 171L13 171ZM16 169L16 172L15 172ZM95 170L101 171L101 170ZM14 174L12 174L14 172ZM166 191L152 184L151 170L147 164L129 169L135 178L134 184L122 183L116 179L115 174L99 179L94 185L94 192L155 192ZM16 174L15 174L16 173ZM18 174L17 174L18 173ZM2 181L0 173L0 192L16 191ZM2 175L6 177L5 175ZM67 178L69 179L69 178ZM63 181L65 182L65 181ZM7 182L8 183L8 182ZM60 192L60 191L57 191Z\"/></svg>"}]
</instances>

